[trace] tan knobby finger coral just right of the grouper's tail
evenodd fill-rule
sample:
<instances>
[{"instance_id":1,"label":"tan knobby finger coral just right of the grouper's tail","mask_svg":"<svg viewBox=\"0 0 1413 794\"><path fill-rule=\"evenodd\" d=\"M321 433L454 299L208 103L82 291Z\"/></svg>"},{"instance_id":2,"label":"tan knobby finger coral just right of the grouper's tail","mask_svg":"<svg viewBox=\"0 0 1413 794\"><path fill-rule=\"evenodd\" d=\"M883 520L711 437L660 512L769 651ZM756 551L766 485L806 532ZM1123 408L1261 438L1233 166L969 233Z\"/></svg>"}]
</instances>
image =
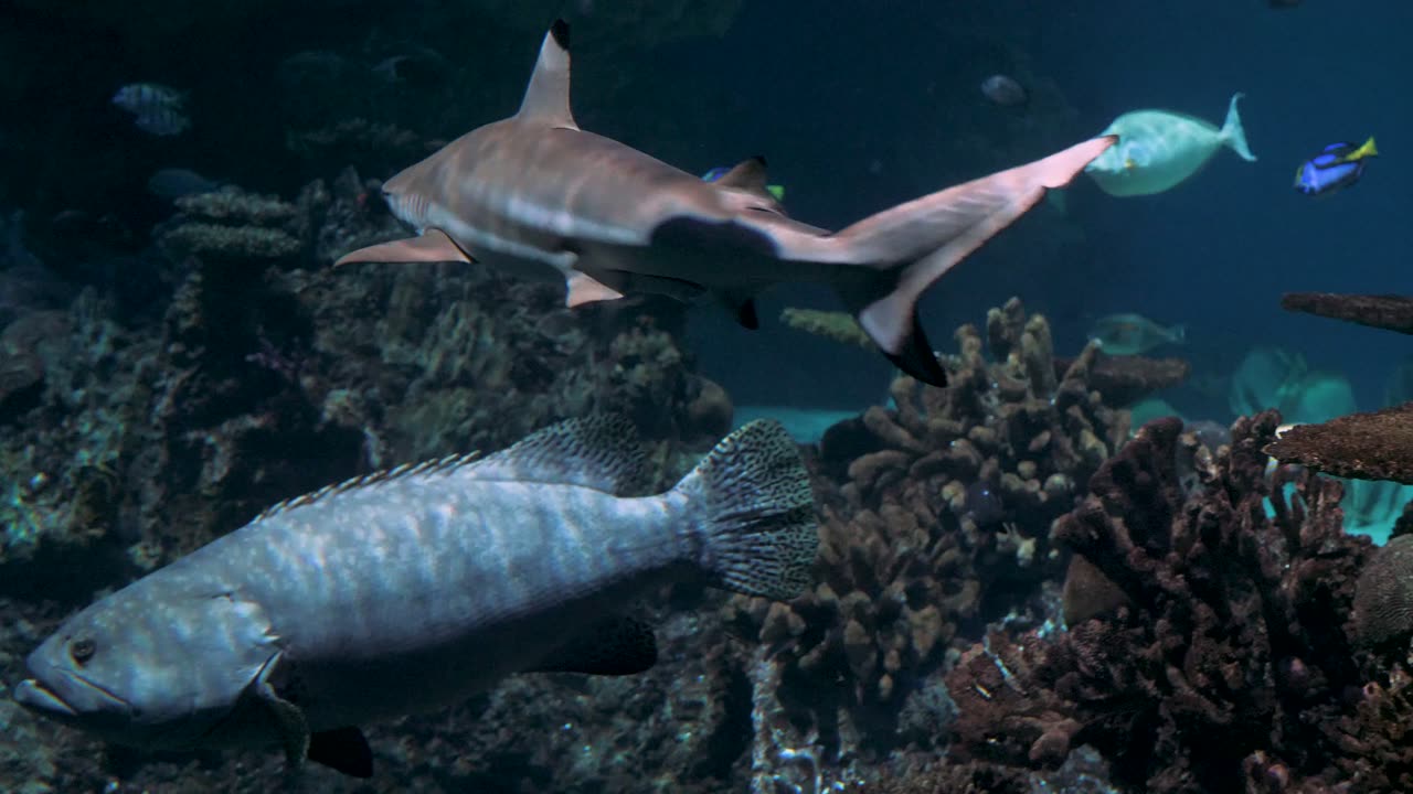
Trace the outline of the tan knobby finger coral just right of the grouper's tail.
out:
<instances>
[{"instance_id":1,"label":"tan knobby finger coral just right of the grouper's tail","mask_svg":"<svg viewBox=\"0 0 1413 794\"><path fill-rule=\"evenodd\" d=\"M1044 619L1043 582L1058 574L1050 523L1123 438L1126 415L1088 389L1094 350L1054 376L1048 325L1019 301L992 311L988 336L995 362L964 326L948 389L899 377L896 408L825 435L811 459L824 511L815 589L726 608L774 648L753 677L771 726L757 729L757 759L801 745L831 760L890 752L900 712L935 685L959 633L1009 613ZM982 519L976 483L999 496L1003 526Z\"/></svg>"}]
</instances>

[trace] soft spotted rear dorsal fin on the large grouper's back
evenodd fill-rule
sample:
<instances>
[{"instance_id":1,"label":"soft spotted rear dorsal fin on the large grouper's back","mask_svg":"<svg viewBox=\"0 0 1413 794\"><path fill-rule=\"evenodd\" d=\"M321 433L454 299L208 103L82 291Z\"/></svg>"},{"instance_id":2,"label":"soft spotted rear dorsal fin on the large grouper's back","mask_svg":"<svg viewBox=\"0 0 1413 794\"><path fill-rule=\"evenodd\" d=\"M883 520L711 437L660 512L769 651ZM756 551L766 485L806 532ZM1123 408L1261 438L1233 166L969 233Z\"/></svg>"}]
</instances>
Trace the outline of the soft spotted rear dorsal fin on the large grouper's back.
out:
<instances>
[{"instance_id":1,"label":"soft spotted rear dorsal fin on the large grouper's back","mask_svg":"<svg viewBox=\"0 0 1413 794\"><path fill-rule=\"evenodd\" d=\"M647 490L647 456L633 422L617 414L550 425L456 476L478 480L578 485L616 496Z\"/></svg>"}]
</instances>

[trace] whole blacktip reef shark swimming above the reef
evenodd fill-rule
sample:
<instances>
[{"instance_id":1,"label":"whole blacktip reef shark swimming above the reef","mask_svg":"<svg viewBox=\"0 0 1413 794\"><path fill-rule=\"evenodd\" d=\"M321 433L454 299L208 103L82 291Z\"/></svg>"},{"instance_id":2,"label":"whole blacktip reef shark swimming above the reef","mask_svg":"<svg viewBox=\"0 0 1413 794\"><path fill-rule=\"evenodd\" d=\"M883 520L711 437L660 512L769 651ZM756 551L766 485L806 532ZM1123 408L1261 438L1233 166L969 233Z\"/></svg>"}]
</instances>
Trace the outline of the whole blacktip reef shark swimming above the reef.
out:
<instances>
[{"instance_id":1,"label":"whole blacktip reef shark swimming above the reef","mask_svg":"<svg viewBox=\"0 0 1413 794\"><path fill-rule=\"evenodd\" d=\"M383 185L417 237L353 261L485 261L564 278L578 307L627 294L711 297L746 328L773 284L832 285L903 372L947 383L917 319L952 266L1113 146L1102 136L828 232L788 218L755 157L715 182L579 129L569 112L569 25L540 47L520 110L472 130Z\"/></svg>"}]
</instances>

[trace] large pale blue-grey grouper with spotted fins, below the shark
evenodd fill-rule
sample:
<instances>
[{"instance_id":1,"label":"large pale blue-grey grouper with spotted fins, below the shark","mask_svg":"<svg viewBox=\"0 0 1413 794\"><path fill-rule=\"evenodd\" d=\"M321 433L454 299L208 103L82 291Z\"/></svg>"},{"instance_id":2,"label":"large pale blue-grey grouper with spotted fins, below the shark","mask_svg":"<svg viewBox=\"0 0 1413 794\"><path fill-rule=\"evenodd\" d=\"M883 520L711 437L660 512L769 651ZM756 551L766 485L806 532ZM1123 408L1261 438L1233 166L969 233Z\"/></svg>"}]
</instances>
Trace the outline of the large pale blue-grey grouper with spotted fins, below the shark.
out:
<instances>
[{"instance_id":1,"label":"large pale blue-grey grouper with spotted fins, below the shark","mask_svg":"<svg viewBox=\"0 0 1413 794\"><path fill-rule=\"evenodd\" d=\"M95 602L14 688L28 709L147 749L283 746L367 777L359 729L520 671L622 675L657 658L636 596L698 581L808 585L818 526L774 421L646 490L632 424L552 425L294 499Z\"/></svg>"}]
</instances>

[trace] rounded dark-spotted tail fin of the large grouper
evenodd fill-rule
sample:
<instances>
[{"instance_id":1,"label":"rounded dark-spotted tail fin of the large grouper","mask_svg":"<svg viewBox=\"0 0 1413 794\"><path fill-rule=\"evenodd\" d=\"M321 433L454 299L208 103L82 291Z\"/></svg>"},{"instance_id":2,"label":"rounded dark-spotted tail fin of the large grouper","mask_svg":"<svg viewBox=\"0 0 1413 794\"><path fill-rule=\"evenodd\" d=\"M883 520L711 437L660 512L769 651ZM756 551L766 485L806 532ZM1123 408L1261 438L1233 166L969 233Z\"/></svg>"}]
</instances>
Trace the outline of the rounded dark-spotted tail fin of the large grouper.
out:
<instances>
[{"instance_id":1,"label":"rounded dark-spotted tail fin of the large grouper","mask_svg":"<svg viewBox=\"0 0 1413 794\"><path fill-rule=\"evenodd\" d=\"M728 435L674 489L692 520L697 562L711 583L787 600L810 586L820 545L810 473L774 420Z\"/></svg>"}]
</instances>

